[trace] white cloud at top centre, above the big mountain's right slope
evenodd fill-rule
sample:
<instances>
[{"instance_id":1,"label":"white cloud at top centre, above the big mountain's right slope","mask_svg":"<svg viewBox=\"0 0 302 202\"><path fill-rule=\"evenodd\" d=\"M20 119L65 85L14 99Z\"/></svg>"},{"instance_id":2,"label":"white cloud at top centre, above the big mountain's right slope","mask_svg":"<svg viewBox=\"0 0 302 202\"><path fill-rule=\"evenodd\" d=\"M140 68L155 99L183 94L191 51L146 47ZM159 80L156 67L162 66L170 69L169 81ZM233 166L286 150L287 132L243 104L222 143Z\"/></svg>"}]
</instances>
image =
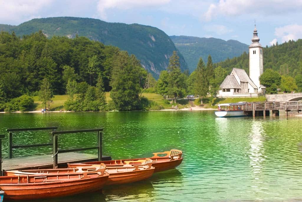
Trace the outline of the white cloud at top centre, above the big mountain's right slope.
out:
<instances>
[{"instance_id":1,"label":"white cloud at top centre, above the big mountain's right slope","mask_svg":"<svg viewBox=\"0 0 302 202\"><path fill-rule=\"evenodd\" d=\"M150 6L161 6L168 4L170 0L99 0L97 5L97 10L102 19L107 19L106 10L110 8L117 8L121 10L126 10L130 8L142 8Z\"/></svg>"}]
</instances>

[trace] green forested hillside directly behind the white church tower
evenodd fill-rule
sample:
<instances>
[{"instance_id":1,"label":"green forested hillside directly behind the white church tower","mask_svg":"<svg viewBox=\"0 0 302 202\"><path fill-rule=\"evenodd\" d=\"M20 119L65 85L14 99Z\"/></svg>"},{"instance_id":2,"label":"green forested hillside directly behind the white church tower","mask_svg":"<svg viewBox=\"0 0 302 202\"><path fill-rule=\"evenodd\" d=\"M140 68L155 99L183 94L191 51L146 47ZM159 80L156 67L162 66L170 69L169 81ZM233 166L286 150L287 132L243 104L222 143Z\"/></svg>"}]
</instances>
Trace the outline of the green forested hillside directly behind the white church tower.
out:
<instances>
[{"instance_id":1,"label":"green forested hillside directly behind the white church tower","mask_svg":"<svg viewBox=\"0 0 302 202\"><path fill-rule=\"evenodd\" d=\"M242 68L249 74L249 54L243 53L239 57L227 59L214 64L221 66L230 73L232 68ZM302 39L288 41L277 46L263 48L264 71L268 68L277 71L280 75L296 77L302 74Z\"/></svg>"}]
</instances>

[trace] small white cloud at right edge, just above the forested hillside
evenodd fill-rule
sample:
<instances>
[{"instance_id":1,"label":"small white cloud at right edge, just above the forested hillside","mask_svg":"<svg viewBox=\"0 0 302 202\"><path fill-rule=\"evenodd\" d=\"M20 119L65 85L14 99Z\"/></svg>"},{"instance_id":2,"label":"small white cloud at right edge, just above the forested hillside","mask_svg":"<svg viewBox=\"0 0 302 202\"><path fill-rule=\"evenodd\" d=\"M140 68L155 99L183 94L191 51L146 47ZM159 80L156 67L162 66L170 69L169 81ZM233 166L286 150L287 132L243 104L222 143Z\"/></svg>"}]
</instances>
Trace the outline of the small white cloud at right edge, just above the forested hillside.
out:
<instances>
[{"instance_id":1,"label":"small white cloud at right edge, just above the forested hillside","mask_svg":"<svg viewBox=\"0 0 302 202\"><path fill-rule=\"evenodd\" d=\"M286 25L275 28L275 36L282 39L282 43L289 40L302 38L302 25Z\"/></svg>"}]
</instances>

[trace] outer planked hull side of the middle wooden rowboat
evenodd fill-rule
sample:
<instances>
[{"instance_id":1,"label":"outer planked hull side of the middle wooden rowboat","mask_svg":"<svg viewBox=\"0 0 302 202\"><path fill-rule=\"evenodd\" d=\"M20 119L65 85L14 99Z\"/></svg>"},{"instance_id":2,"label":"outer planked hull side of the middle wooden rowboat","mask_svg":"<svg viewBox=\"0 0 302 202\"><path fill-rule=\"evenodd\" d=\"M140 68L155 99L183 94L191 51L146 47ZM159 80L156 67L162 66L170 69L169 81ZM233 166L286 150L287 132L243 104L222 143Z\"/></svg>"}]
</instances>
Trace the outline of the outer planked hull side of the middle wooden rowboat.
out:
<instances>
[{"instance_id":1,"label":"outer planked hull side of the middle wooden rowboat","mask_svg":"<svg viewBox=\"0 0 302 202\"><path fill-rule=\"evenodd\" d=\"M151 177L153 173L154 168L140 171L110 173L108 181L105 185L133 183L140 180L145 180Z\"/></svg>"}]
</instances>

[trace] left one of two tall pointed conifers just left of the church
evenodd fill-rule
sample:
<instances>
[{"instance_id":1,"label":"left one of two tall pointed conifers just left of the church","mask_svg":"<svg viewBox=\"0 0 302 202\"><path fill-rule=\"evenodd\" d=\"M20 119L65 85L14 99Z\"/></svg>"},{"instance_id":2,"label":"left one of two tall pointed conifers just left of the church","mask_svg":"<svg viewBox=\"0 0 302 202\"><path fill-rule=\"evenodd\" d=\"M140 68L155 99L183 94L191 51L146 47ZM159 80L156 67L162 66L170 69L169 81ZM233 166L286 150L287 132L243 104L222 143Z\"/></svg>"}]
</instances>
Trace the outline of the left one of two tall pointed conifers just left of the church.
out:
<instances>
[{"instance_id":1,"label":"left one of two tall pointed conifers just left of the church","mask_svg":"<svg viewBox=\"0 0 302 202\"><path fill-rule=\"evenodd\" d=\"M209 80L207 79L207 71L202 58L199 59L195 71L197 76L194 84L194 94L199 95L202 104L202 97L207 96L207 93L209 91Z\"/></svg>"}]
</instances>

